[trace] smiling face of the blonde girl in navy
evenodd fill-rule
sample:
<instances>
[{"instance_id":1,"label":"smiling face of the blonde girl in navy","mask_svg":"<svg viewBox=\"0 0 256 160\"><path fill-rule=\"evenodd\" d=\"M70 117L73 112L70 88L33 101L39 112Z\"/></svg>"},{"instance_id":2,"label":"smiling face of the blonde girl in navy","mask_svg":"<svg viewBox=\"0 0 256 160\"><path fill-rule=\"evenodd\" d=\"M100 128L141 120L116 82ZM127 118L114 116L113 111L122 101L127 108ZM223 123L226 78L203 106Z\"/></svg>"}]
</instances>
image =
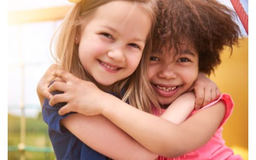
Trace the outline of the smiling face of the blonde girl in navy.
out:
<instances>
[{"instance_id":1,"label":"smiling face of the blonde girl in navy","mask_svg":"<svg viewBox=\"0 0 256 160\"><path fill-rule=\"evenodd\" d=\"M102 5L86 19L79 35L79 59L102 90L110 91L113 83L136 70L150 28L150 16L129 1Z\"/></svg>"}]
</instances>

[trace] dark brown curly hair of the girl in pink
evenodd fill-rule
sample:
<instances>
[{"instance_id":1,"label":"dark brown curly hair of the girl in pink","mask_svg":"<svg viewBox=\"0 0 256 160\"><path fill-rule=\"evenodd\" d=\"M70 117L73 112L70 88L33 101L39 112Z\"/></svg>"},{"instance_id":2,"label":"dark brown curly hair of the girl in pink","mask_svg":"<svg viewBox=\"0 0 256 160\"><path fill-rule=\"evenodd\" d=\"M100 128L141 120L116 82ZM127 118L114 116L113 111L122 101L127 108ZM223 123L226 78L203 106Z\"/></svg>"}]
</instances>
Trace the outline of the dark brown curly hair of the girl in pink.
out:
<instances>
[{"instance_id":1,"label":"dark brown curly hair of the girl in pink","mask_svg":"<svg viewBox=\"0 0 256 160\"><path fill-rule=\"evenodd\" d=\"M186 38L199 54L199 71L209 75L221 63L224 47L232 54L232 45L238 44L236 13L218 1L159 0L158 7L153 52L168 44L177 54Z\"/></svg>"}]
</instances>

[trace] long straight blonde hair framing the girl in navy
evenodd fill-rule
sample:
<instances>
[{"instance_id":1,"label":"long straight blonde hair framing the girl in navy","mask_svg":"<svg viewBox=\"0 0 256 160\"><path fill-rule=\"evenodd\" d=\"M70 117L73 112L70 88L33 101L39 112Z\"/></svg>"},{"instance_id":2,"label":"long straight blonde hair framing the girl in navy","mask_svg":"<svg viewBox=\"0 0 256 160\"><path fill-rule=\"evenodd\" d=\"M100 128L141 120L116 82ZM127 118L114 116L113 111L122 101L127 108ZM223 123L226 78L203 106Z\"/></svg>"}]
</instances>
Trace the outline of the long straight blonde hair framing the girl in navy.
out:
<instances>
[{"instance_id":1,"label":"long straight blonde hair framing the girl in navy","mask_svg":"<svg viewBox=\"0 0 256 160\"><path fill-rule=\"evenodd\" d=\"M59 63L60 69L68 71L83 80L95 82L82 67L78 56L79 45L75 44L75 37L86 17L91 15L98 7L112 1L120 0L83 0L71 9L58 30L55 46L56 55L54 58ZM145 9L151 17L152 26L150 33L148 33L142 58L137 69L131 76L116 82L113 92L117 93L122 101L129 101L131 105L140 110L152 112L151 104L158 106L158 102L147 80L146 70L150 52L152 51L152 37L156 22L157 2L156 0L129 1L135 2ZM56 34L54 36L56 36Z\"/></svg>"}]
</instances>

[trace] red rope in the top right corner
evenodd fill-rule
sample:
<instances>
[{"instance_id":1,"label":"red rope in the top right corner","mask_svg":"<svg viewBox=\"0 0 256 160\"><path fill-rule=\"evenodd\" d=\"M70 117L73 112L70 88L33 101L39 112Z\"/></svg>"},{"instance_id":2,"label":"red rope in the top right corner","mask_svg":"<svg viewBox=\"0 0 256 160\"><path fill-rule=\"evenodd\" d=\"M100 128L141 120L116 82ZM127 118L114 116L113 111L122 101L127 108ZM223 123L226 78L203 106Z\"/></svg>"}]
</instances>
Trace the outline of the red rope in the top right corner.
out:
<instances>
[{"instance_id":1,"label":"red rope in the top right corner","mask_svg":"<svg viewBox=\"0 0 256 160\"><path fill-rule=\"evenodd\" d=\"M242 4L239 0L230 0L234 10L237 12L239 19L241 20L244 29L248 35L248 15L246 14Z\"/></svg>"}]
</instances>

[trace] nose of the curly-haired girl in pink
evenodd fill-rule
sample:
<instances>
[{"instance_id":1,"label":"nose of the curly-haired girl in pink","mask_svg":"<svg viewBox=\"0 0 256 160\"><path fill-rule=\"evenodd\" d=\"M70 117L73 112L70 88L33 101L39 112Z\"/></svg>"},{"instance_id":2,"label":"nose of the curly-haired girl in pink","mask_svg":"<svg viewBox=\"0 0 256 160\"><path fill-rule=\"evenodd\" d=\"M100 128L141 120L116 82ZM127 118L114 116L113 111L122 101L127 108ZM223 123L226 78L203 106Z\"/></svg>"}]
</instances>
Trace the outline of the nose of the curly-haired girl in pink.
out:
<instances>
[{"instance_id":1,"label":"nose of the curly-haired girl in pink","mask_svg":"<svg viewBox=\"0 0 256 160\"><path fill-rule=\"evenodd\" d=\"M175 72L175 68L172 65L165 65L158 73L158 77L169 80L177 78L177 74Z\"/></svg>"}]
</instances>

